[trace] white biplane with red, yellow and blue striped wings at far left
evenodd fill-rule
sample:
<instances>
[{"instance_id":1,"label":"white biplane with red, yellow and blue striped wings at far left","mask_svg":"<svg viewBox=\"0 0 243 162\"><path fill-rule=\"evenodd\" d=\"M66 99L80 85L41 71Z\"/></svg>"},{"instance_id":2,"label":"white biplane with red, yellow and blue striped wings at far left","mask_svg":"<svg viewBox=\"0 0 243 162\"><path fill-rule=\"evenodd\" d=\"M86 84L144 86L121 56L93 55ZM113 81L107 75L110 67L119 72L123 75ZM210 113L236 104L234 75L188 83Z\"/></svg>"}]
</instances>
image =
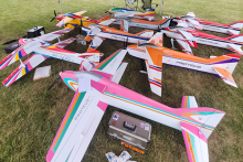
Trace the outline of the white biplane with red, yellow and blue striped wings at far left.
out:
<instances>
[{"instance_id":1,"label":"white biplane with red, yellow and blue striped wings at far left","mask_svg":"<svg viewBox=\"0 0 243 162\"><path fill-rule=\"evenodd\" d=\"M36 67L39 64L44 62L46 58L59 58L62 61L67 61L82 65L82 69L91 69L99 62L99 52L93 51L83 54L63 50L67 44L72 43L75 39L68 39L55 44L50 44L47 42L70 32L72 29L64 29L41 35L35 39L20 39L20 47L14 50L6 58L0 62L0 69L3 69L8 65L20 60L20 66L13 71L3 82L4 86L10 86L13 82L29 73L31 69ZM27 61L22 62L21 58L33 52Z\"/></svg>"}]
</instances>

